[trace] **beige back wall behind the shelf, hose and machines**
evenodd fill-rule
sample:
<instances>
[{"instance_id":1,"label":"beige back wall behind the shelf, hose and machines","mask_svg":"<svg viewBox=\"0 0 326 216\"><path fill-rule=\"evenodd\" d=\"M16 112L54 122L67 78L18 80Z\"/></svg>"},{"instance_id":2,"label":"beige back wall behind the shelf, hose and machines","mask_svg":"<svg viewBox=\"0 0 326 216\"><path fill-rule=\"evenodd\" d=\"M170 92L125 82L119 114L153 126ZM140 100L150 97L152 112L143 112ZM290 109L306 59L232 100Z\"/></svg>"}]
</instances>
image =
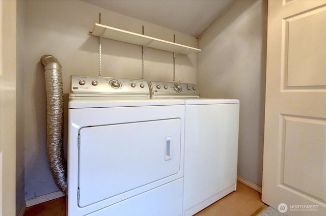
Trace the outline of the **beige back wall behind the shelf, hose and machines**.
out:
<instances>
[{"instance_id":1,"label":"beige back wall behind the shelf, hose and machines","mask_svg":"<svg viewBox=\"0 0 326 216\"><path fill-rule=\"evenodd\" d=\"M102 24L197 47L197 39L81 1L26 1L24 43L25 199L58 191L46 158L46 101L40 57L57 57L63 69L65 145L69 77L98 75L98 38L88 34L102 13ZM172 81L173 54L146 48L145 80ZM142 47L102 40L102 76L141 79ZM197 55L177 55L176 79L196 82Z\"/></svg>"}]
</instances>

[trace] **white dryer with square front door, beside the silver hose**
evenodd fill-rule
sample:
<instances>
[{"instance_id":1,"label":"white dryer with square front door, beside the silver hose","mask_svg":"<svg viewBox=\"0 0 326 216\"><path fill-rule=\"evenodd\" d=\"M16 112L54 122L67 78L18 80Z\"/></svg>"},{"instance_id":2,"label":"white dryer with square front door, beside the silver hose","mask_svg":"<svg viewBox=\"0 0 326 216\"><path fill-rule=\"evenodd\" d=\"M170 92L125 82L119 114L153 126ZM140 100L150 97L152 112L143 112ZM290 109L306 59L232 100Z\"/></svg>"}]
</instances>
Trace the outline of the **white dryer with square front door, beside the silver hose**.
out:
<instances>
[{"instance_id":1,"label":"white dryer with square front door, beside the silver hose","mask_svg":"<svg viewBox=\"0 0 326 216\"><path fill-rule=\"evenodd\" d=\"M68 216L183 214L184 101L146 81L72 76Z\"/></svg>"}]
</instances>

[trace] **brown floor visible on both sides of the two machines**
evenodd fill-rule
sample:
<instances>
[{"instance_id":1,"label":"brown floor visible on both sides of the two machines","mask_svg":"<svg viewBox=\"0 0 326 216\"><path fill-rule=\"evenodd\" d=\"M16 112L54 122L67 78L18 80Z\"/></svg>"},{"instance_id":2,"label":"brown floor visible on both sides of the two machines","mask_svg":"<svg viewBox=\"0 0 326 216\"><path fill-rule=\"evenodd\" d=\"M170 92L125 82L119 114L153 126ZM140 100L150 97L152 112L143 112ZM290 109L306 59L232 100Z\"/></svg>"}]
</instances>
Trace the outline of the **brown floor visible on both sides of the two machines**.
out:
<instances>
[{"instance_id":1,"label":"brown floor visible on both sides of the two machines","mask_svg":"<svg viewBox=\"0 0 326 216\"><path fill-rule=\"evenodd\" d=\"M254 189L237 182L237 190L195 216L253 216L266 206L261 202L261 194ZM26 209L24 216L65 216L66 197L51 200Z\"/></svg>"}]
</instances>

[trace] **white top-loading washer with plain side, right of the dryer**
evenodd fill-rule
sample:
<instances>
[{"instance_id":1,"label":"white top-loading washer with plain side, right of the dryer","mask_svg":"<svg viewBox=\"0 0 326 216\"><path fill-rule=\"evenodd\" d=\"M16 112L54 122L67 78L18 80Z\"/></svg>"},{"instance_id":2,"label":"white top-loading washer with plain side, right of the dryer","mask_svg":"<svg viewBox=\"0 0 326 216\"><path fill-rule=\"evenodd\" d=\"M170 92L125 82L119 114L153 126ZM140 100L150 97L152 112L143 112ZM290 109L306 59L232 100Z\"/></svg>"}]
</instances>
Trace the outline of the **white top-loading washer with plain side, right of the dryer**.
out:
<instances>
[{"instance_id":1,"label":"white top-loading washer with plain side, right of the dryer","mask_svg":"<svg viewBox=\"0 0 326 216\"><path fill-rule=\"evenodd\" d=\"M183 98L184 216L236 190L239 101L199 97L196 84L150 82L151 98Z\"/></svg>"}]
</instances>

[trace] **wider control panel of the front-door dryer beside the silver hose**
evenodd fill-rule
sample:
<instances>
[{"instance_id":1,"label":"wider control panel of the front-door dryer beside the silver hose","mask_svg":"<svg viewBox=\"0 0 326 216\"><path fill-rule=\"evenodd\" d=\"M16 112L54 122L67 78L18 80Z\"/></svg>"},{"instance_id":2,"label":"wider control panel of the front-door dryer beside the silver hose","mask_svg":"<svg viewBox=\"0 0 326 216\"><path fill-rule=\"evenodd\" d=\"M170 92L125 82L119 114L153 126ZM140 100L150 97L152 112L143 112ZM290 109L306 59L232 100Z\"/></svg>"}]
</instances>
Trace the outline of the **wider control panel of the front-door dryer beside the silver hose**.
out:
<instances>
[{"instance_id":1,"label":"wider control panel of the front-door dryer beside the silver hose","mask_svg":"<svg viewBox=\"0 0 326 216\"><path fill-rule=\"evenodd\" d=\"M101 76L70 76L70 96L87 97L149 97L145 80Z\"/></svg>"}]
</instances>

